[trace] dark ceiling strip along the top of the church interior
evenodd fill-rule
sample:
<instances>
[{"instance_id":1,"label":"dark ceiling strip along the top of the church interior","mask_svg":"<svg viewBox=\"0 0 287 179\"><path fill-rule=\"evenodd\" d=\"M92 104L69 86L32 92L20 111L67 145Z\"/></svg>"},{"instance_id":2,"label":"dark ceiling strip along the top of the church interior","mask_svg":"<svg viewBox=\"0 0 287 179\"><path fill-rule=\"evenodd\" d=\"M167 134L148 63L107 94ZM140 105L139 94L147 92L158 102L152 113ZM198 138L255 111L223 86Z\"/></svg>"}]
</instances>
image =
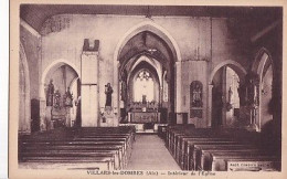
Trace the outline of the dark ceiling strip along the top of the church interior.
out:
<instances>
[{"instance_id":1,"label":"dark ceiling strip along the top of the church interior","mask_svg":"<svg viewBox=\"0 0 287 179\"><path fill-rule=\"evenodd\" d=\"M281 19L280 7L206 6L107 6L107 4L21 4L20 17L40 32L44 21L55 14L184 15L235 18L236 27L256 24L258 30ZM255 23L256 22L256 23ZM234 29L236 29L236 27Z\"/></svg>"}]
</instances>

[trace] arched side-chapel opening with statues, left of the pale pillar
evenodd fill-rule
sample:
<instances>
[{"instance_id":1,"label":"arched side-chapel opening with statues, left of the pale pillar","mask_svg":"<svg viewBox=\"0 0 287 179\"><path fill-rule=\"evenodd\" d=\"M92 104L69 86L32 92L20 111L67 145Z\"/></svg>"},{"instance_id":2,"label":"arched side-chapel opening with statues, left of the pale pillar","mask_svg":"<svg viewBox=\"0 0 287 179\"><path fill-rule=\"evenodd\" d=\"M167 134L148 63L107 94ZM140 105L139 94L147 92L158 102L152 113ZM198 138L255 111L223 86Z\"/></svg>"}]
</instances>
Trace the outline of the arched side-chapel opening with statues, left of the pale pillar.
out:
<instances>
[{"instance_id":1,"label":"arched side-chapel opening with statues, left of the pale pillar","mask_svg":"<svg viewBox=\"0 0 287 179\"><path fill-rule=\"evenodd\" d=\"M81 126L81 82L78 72L65 62L55 63L42 76L43 93L40 127L42 130L57 127Z\"/></svg>"}]
</instances>

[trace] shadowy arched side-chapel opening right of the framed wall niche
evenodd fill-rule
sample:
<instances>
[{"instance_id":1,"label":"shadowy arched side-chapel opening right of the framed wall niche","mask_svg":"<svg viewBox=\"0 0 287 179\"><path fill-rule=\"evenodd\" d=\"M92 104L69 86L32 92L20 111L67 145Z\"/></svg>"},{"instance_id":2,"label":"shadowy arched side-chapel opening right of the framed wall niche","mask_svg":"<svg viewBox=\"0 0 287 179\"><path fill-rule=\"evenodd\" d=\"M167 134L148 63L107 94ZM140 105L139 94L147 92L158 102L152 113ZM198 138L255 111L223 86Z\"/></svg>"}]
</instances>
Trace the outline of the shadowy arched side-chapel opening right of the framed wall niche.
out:
<instances>
[{"instance_id":1,"label":"shadowy arched side-chapel opening right of the framed wall niche","mask_svg":"<svg viewBox=\"0 0 287 179\"><path fill-rule=\"evenodd\" d=\"M246 72L240 65L224 64L211 81L211 127L241 127L248 125L244 116L242 85Z\"/></svg>"}]
</instances>

